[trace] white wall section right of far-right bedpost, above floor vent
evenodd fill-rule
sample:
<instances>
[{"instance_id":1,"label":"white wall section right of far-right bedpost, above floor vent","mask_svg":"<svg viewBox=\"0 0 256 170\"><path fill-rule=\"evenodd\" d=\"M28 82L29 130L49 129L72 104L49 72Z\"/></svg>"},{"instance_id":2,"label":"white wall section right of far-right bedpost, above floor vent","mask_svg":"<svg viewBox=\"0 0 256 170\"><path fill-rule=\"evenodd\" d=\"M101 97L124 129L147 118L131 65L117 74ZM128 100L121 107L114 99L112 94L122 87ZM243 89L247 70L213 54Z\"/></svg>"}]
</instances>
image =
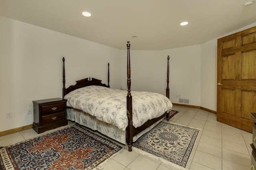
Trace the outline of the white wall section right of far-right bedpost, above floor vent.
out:
<instances>
[{"instance_id":1,"label":"white wall section right of far-right bedpost, above floor vent","mask_svg":"<svg viewBox=\"0 0 256 170\"><path fill-rule=\"evenodd\" d=\"M176 95L200 106L201 47L193 45L162 51L170 55L170 100L179 103Z\"/></svg>"}]
</instances>

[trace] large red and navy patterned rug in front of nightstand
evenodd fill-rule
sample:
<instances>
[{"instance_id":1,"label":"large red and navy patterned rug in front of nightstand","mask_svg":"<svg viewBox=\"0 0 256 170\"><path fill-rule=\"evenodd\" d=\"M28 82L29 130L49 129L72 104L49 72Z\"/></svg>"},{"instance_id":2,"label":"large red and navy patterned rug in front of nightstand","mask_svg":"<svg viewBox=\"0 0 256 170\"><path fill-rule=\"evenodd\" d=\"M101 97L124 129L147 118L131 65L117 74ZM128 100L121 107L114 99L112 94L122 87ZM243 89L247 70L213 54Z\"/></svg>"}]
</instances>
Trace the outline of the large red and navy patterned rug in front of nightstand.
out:
<instances>
[{"instance_id":1,"label":"large red and navy patterned rug in front of nightstand","mask_svg":"<svg viewBox=\"0 0 256 170\"><path fill-rule=\"evenodd\" d=\"M3 170L92 170L122 147L72 125L0 149Z\"/></svg>"}]
</instances>

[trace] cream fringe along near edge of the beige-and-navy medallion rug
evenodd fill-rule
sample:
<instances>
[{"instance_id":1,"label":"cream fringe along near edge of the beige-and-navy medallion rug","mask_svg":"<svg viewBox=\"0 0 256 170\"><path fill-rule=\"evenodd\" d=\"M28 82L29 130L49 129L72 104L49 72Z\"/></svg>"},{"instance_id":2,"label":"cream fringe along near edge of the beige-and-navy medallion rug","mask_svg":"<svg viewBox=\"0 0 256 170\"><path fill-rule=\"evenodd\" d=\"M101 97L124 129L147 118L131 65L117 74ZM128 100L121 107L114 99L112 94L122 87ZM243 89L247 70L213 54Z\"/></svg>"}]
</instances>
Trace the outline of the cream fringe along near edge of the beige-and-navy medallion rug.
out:
<instances>
[{"instance_id":1,"label":"cream fringe along near edge of the beige-and-navy medallion rug","mask_svg":"<svg viewBox=\"0 0 256 170\"><path fill-rule=\"evenodd\" d=\"M170 166L171 166L171 167L170 167L171 169L172 169L172 168L175 168L175 170L188 170L188 169L186 169L186 168L184 168L184 167L182 167L182 166L180 166L180 165L174 164L173 162L170 162L170 161L168 161L168 160L165 160L165 159L163 159L163 158L160 158L160 157L158 157L158 156L156 156L156 155L154 155L154 154L148 153L148 152L146 152L146 151L144 151L144 150L141 150L141 149L138 149L138 148L136 148L136 147L132 147L132 150L135 151L135 152L137 152L138 154L142 154L142 155L144 155L144 156L148 156L149 158L153 158L153 159L156 159L156 160L160 160L162 163L167 164L167 165L170 165Z\"/></svg>"}]
</instances>

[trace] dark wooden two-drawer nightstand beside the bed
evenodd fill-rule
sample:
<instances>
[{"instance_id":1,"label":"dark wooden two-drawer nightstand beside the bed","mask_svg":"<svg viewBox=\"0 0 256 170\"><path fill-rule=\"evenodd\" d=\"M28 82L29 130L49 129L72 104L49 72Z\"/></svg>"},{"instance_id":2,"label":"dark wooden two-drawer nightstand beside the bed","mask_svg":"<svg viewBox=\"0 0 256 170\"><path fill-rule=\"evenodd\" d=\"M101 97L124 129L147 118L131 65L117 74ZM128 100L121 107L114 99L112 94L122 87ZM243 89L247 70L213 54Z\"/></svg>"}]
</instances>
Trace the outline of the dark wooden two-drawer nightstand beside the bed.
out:
<instances>
[{"instance_id":1,"label":"dark wooden two-drawer nightstand beside the bed","mask_svg":"<svg viewBox=\"0 0 256 170\"><path fill-rule=\"evenodd\" d=\"M33 101L33 129L37 133L42 133L49 129L68 125L66 102L67 100L62 98Z\"/></svg>"}]
</instances>

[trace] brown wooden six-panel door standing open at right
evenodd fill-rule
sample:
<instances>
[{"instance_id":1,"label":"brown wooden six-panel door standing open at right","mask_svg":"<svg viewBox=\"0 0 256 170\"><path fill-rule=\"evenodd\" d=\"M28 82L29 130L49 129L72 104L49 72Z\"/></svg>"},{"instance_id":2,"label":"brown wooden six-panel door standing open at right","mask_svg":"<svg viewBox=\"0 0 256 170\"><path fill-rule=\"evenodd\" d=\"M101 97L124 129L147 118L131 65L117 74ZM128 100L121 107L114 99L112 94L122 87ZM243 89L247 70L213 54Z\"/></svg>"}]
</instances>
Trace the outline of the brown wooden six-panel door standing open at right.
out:
<instances>
[{"instance_id":1,"label":"brown wooden six-panel door standing open at right","mask_svg":"<svg viewBox=\"0 0 256 170\"><path fill-rule=\"evenodd\" d=\"M256 113L256 27L218 39L217 121L252 133Z\"/></svg>"}]
</instances>

